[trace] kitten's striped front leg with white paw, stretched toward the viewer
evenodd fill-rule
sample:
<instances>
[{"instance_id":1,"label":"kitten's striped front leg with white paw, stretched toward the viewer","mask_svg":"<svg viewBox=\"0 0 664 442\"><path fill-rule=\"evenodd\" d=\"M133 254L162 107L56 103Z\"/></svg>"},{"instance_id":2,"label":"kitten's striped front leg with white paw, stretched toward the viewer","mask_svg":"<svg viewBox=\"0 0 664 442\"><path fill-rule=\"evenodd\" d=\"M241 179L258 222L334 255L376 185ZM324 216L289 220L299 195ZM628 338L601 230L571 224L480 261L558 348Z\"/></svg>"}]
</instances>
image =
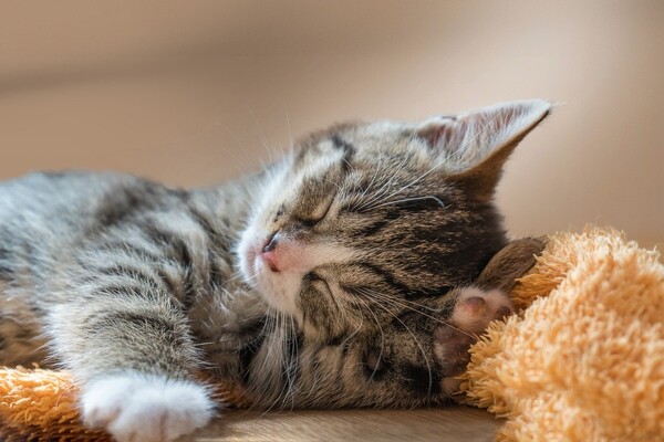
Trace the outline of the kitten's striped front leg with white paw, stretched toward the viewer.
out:
<instances>
[{"instance_id":1,"label":"kitten's striped front leg with white paw, stretched toward the viewer","mask_svg":"<svg viewBox=\"0 0 664 442\"><path fill-rule=\"evenodd\" d=\"M85 424L118 442L172 441L215 414L178 307L149 296L100 296L58 307L54 350L81 383Z\"/></svg>"}]
</instances>

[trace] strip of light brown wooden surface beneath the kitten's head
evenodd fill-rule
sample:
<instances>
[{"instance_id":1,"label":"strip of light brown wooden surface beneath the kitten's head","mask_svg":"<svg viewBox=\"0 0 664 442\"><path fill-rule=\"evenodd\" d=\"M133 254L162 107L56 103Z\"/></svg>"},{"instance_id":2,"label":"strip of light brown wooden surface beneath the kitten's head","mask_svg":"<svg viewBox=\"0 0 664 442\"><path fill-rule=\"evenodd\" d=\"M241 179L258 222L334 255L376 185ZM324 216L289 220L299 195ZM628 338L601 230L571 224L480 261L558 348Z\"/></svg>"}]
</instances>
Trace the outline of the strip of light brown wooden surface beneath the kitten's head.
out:
<instances>
[{"instance_id":1,"label":"strip of light brown wooden surface beneath the kitten's head","mask_svg":"<svg viewBox=\"0 0 664 442\"><path fill-rule=\"evenodd\" d=\"M492 441L501 421L468 407L419 410L231 410L191 442Z\"/></svg>"}]
</instances>

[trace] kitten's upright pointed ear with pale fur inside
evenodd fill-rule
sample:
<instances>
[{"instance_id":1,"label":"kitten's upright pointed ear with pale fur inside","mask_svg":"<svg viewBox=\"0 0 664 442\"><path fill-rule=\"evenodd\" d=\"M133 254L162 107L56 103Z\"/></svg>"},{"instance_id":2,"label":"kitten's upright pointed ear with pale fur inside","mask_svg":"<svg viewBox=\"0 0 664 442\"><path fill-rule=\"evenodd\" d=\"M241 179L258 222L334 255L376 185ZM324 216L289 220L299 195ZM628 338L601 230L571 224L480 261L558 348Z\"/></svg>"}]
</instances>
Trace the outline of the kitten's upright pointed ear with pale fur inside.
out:
<instances>
[{"instance_id":1,"label":"kitten's upright pointed ear with pale fur inside","mask_svg":"<svg viewBox=\"0 0 664 442\"><path fill-rule=\"evenodd\" d=\"M509 154L549 115L543 99L500 103L429 119L417 128L439 166L479 199L490 199Z\"/></svg>"}]
</instances>

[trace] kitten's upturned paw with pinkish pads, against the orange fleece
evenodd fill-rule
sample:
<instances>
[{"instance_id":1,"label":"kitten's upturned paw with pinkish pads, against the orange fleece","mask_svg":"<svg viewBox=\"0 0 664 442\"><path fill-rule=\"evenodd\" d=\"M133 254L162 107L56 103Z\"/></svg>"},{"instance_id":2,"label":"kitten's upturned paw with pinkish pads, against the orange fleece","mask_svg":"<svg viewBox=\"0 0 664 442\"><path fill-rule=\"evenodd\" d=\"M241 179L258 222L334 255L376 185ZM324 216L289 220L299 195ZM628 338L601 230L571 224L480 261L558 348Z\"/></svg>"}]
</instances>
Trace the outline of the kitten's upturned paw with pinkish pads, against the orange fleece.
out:
<instances>
[{"instance_id":1,"label":"kitten's upturned paw with pinkish pads, against the orange fleece","mask_svg":"<svg viewBox=\"0 0 664 442\"><path fill-rule=\"evenodd\" d=\"M466 370L470 360L468 349L489 323L512 312L513 304L499 290L468 287L460 291L447 324L438 326L434 332L434 352L442 367L445 391L457 392L459 381L455 376Z\"/></svg>"}]
</instances>

